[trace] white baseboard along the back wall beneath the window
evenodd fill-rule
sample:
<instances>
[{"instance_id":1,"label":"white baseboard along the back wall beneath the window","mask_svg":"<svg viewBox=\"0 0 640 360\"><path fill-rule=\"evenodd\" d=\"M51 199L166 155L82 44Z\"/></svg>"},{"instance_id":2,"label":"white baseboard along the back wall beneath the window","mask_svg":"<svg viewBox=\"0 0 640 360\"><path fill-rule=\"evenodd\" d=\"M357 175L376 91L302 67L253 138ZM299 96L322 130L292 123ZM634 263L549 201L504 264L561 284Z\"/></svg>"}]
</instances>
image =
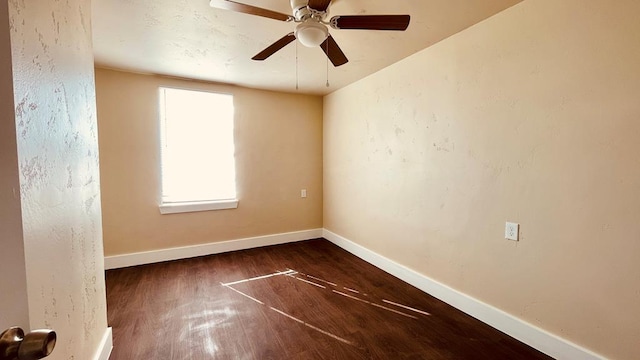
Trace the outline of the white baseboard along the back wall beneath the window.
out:
<instances>
[{"instance_id":1,"label":"white baseboard along the back wall beneath the window","mask_svg":"<svg viewBox=\"0 0 640 360\"><path fill-rule=\"evenodd\" d=\"M322 229L313 229L284 234L274 234L246 239L222 241L202 245L106 256L104 258L104 267L105 270L119 269L129 266L151 264L162 261L188 259L198 256L220 254L229 251L252 249L261 246L279 245L295 241L316 239L320 237L322 237Z\"/></svg>"}]
</instances>

